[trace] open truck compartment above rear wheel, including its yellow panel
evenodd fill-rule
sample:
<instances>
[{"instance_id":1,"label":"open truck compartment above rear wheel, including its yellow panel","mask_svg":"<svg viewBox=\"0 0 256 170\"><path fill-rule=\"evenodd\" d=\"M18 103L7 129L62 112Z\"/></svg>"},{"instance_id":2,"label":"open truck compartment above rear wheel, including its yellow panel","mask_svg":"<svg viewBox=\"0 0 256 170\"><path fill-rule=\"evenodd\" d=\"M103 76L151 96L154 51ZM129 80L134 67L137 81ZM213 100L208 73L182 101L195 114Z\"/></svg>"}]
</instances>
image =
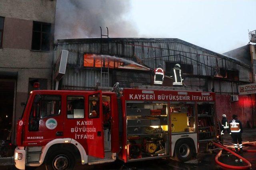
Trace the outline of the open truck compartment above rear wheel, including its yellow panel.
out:
<instances>
[{"instance_id":1,"label":"open truck compartment above rear wheel, including its yellow panel","mask_svg":"<svg viewBox=\"0 0 256 170\"><path fill-rule=\"evenodd\" d=\"M194 104L171 104L170 114L172 133L194 133L194 112Z\"/></svg>"}]
</instances>

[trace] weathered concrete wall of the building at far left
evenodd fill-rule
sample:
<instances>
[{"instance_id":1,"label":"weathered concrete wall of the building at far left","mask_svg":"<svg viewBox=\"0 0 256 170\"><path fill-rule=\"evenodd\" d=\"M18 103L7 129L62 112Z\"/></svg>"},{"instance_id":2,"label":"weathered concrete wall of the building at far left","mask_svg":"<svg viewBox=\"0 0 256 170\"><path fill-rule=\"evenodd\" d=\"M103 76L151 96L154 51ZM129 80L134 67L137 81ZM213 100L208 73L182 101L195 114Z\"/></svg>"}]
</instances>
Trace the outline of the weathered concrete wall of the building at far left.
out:
<instances>
[{"instance_id":1,"label":"weathered concrete wall of the building at far left","mask_svg":"<svg viewBox=\"0 0 256 170\"><path fill-rule=\"evenodd\" d=\"M16 98L13 132L22 115L20 102L28 97L29 78L47 79L52 88L52 58L56 0L0 0L0 16L4 16L3 48L0 48L1 72L16 74ZM33 21L51 23L50 51L32 51ZM8 78L8 77L7 77ZM14 140L13 135L12 140Z\"/></svg>"}]
</instances>

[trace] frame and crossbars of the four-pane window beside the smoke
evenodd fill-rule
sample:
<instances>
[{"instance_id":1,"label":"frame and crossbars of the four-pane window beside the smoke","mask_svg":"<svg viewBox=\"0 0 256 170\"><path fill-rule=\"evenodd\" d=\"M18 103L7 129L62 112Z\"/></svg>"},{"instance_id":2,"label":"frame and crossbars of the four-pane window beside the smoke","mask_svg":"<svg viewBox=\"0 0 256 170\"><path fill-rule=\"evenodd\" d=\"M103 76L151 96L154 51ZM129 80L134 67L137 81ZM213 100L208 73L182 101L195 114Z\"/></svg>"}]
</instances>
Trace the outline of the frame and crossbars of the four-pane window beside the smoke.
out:
<instances>
[{"instance_id":1,"label":"frame and crossbars of the four-pane window beside the smoke","mask_svg":"<svg viewBox=\"0 0 256 170\"><path fill-rule=\"evenodd\" d=\"M34 30L34 24L35 23L40 23L40 31L35 31ZM50 31L49 32L44 32L42 31L42 27L43 25L50 25ZM47 22L40 22L40 21L33 21L33 26L32 26L32 40L31 40L31 51L45 51L45 52L49 52L50 51L50 42L51 42L51 31L52 31L52 24L51 23L47 23ZM39 49L33 49L33 34L34 32L37 32L37 33L40 33L40 48ZM42 35L43 33L45 34L48 34L49 36L49 50L42 50L42 41L43 41L43 38L42 38Z\"/></svg>"}]
</instances>

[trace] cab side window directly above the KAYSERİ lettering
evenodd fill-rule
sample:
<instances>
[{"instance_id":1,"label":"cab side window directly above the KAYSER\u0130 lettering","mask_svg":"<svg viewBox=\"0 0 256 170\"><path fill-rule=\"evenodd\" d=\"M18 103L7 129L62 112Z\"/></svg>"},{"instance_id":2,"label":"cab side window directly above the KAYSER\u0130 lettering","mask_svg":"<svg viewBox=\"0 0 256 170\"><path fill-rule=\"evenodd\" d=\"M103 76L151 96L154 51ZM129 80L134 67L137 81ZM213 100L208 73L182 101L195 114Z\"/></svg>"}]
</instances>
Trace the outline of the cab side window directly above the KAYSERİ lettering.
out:
<instances>
[{"instance_id":1,"label":"cab side window directly above the KAYSER\u0130 lettering","mask_svg":"<svg viewBox=\"0 0 256 170\"><path fill-rule=\"evenodd\" d=\"M67 97L68 119L84 118L84 96Z\"/></svg>"}]
</instances>

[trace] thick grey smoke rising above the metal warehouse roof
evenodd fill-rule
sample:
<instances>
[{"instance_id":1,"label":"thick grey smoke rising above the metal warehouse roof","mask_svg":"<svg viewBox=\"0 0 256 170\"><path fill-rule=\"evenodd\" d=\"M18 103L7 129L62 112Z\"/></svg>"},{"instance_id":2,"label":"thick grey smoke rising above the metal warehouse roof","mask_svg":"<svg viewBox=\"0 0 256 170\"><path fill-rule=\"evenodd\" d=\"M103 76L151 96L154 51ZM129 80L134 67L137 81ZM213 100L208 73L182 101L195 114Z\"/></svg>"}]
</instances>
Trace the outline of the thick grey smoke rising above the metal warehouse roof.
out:
<instances>
[{"instance_id":1,"label":"thick grey smoke rising above the metal warehouse roof","mask_svg":"<svg viewBox=\"0 0 256 170\"><path fill-rule=\"evenodd\" d=\"M58 0L55 39L100 37L100 26L110 37L136 37L129 10L126 0Z\"/></svg>"}]
</instances>

